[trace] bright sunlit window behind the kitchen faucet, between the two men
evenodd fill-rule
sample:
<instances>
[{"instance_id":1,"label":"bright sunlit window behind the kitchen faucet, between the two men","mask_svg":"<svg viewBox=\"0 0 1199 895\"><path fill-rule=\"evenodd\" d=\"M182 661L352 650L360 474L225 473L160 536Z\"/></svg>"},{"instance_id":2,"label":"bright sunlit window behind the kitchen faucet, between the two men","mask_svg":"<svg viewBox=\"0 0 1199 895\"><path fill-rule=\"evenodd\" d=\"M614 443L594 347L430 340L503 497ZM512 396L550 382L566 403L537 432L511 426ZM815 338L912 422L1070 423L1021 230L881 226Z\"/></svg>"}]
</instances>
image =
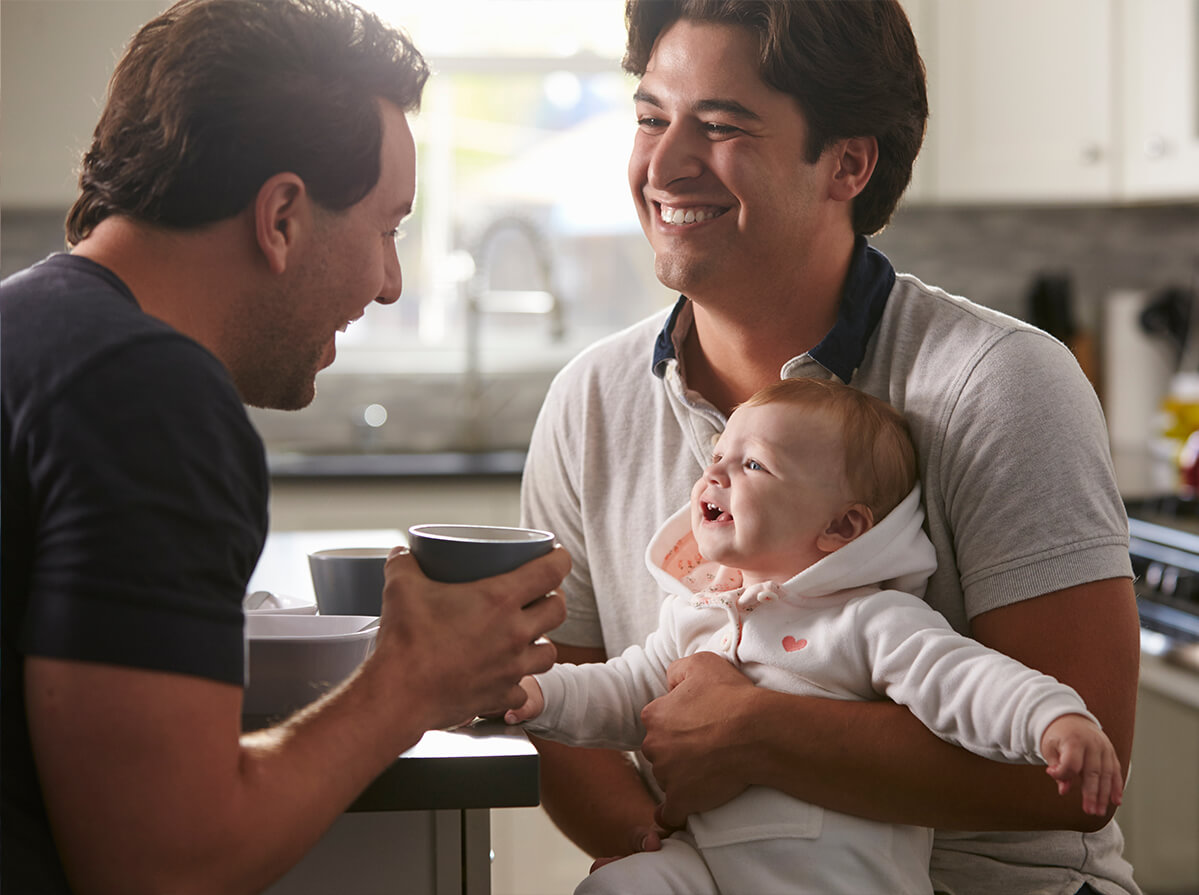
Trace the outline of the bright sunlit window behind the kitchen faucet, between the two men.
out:
<instances>
[{"instance_id":1,"label":"bright sunlit window behind the kitchen faucet, between the two men","mask_svg":"<svg viewBox=\"0 0 1199 895\"><path fill-rule=\"evenodd\" d=\"M641 244L622 0L364 5L411 35L433 74L411 119L404 295L350 328L338 366L396 364L384 356L398 347L472 350L481 329L488 349L579 344L640 317L641 288L611 282ZM631 276L649 272L634 263Z\"/></svg>"}]
</instances>

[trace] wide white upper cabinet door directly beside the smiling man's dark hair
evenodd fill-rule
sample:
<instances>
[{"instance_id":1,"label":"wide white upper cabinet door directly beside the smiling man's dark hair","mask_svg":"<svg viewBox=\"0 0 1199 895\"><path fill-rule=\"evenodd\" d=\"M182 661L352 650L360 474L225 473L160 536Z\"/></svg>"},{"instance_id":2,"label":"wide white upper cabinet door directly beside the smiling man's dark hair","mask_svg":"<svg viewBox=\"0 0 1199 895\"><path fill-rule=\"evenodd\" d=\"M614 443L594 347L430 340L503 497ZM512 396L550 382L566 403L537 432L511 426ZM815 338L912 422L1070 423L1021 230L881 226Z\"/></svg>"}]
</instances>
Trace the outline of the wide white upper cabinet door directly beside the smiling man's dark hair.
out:
<instances>
[{"instance_id":1,"label":"wide white upper cabinet door directly beside the smiling man's dark hair","mask_svg":"<svg viewBox=\"0 0 1199 895\"><path fill-rule=\"evenodd\" d=\"M951 203L1114 194L1113 1L933 4L926 191Z\"/></svg>"}]
</instances>

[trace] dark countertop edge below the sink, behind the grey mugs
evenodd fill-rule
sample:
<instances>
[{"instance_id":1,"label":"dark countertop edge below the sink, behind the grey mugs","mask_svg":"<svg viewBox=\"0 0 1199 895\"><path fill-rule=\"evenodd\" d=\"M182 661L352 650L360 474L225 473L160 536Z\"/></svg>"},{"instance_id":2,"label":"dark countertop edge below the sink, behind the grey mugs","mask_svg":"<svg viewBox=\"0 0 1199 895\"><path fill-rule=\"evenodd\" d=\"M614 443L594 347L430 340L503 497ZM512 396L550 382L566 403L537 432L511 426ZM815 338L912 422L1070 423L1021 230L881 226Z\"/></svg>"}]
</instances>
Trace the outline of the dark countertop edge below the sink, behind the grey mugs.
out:
<instances>
[{"instance_id":1,"label":"dark countertop edge below the sink, behind the grey mugs","mask_svg":"<svg viewBox=\"0 0 1199 895\"><path fill-rule=\"evenodd\" d=\"M276 480L379 477L519 477L524 451L445 451L439 453L269 453Z\"/></svg>"}]
</instances>

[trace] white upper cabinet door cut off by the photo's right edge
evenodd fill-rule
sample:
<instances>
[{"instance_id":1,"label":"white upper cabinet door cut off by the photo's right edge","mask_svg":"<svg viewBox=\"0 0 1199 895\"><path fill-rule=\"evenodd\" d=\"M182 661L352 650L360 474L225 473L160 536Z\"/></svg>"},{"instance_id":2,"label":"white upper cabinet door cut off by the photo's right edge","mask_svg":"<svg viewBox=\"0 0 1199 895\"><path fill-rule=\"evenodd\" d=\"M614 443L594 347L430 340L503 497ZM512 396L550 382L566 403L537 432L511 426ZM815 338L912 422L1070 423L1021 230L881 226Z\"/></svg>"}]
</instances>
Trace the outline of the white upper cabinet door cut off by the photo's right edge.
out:
<instances>
[{"instance_id":1,"label":"white upper cabinet door cut off by the photo's right edge","mask_svg":"<svg viewBox=\"0 0 1199 895\"><path fill-rule=\"evenodd\" d=\"M1199 0L1120 7L1120 197L1199 196Z\"/></svg>"}]
</instances>

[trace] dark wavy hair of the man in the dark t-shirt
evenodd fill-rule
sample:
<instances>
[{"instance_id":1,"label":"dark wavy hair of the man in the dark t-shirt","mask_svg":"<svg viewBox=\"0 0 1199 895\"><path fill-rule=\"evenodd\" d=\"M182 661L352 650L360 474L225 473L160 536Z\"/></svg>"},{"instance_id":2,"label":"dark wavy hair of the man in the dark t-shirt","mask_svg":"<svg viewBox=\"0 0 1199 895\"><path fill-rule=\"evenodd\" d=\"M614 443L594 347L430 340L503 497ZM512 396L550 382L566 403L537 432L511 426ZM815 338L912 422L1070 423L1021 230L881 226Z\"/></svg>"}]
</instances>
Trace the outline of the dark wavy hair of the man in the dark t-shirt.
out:
<instances>
[{"instance_id":1,"label":"dark wavy hair of the man in the dark t-shirt","mask_svg":"<svg viewBox=\"0 0 1199 895\"><path fill-rule=\"evenodd\" d=\"M110 215L222 221L281 172L347 209L379 179L378 101L420 108L428 74L406 35L343 0L182 0L113 73L67 242Z\"/></svg>"}]
</instances>

